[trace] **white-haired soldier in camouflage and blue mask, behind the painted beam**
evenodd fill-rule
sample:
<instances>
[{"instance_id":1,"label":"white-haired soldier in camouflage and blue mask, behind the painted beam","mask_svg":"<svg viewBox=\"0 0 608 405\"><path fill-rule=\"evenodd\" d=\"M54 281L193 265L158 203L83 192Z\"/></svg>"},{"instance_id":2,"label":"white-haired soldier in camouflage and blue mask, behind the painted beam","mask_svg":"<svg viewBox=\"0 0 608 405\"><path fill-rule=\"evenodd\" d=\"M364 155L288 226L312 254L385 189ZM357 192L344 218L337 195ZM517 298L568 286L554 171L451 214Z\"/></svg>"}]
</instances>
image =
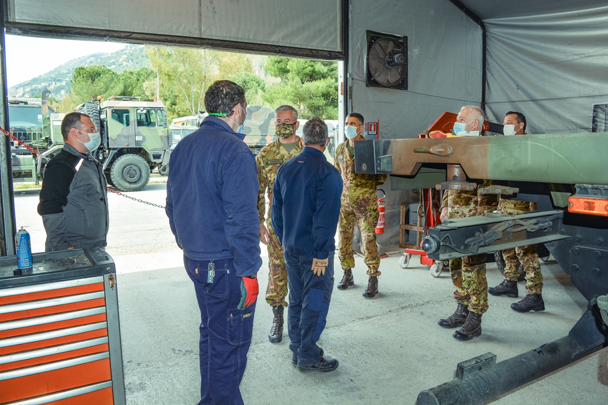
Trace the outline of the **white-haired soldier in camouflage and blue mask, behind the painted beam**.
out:
<instances>
[{"instance_id":1,"label":"white-haired soldier in camouflage and blue mask, behind the painted beam","mask_svg":"<svg viewBox=\"0 0 608 405\"><path fill-rule=\"evenodd\" d=\"M468 136L480 133L483 125L483 111L475 106L462 107L456 118L454 132ZM460 127L460 128L459 128ZM482 187L489 186L483 180ZM441 220L482 216L496 209L498 197L493 194L478 194L472 191L447 190L441 202ZM486 253L450 260L450 274L456 290L454 298L457 308L453 315L440 319L444 328L461 326L454 332L454 339L470 340L482 334L482 315L488 310L488 282L486 281Z\"/></svg>"}]
</instances>

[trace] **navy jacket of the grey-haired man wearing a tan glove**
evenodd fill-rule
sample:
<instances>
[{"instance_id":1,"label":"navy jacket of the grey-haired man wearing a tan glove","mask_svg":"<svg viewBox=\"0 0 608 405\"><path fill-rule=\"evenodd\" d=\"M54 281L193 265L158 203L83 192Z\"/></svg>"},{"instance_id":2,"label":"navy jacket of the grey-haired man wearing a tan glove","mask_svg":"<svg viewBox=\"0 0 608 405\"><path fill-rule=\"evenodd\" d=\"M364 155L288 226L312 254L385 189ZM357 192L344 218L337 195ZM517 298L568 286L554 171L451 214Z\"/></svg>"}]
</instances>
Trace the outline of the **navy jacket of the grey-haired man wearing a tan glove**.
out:
<instances>
[{"instance_id":1,"label":"navy jacket of the grey-haired man wearing a tan glove","mask_svg":"<svg viewBox=\"0 0 608 405\"><path fill-rule=\"evenodd\" d=\"M326 259L336 250L342 178L325 155L305 146L283 163L274 181L272 228L287 251Z\"/></svg>"}]
</instances>

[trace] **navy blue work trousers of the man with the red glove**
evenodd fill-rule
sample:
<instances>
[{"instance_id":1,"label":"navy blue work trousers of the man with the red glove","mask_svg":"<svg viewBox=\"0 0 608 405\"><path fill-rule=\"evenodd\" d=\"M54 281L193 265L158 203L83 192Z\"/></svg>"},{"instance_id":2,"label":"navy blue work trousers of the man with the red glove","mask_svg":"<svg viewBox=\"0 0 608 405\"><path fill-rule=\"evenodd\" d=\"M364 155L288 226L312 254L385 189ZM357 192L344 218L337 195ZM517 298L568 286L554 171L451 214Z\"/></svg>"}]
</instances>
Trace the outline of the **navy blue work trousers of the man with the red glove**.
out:
<instances>
[{"instance_id":1,"label":"navy blue work trousers of the man with the red glove","mask_svg":"<svg viewBox=\"0 0 608 405\"><path fill-rule=\"evenodd\" d=\"M254 327L255 304L237 310L241 278L230 259L213 260L215 275L209 280L209 260L184 256L201 310L201 401L199 405L243 404L238 386L247 364Z\"/></svg>"}]
</instances>

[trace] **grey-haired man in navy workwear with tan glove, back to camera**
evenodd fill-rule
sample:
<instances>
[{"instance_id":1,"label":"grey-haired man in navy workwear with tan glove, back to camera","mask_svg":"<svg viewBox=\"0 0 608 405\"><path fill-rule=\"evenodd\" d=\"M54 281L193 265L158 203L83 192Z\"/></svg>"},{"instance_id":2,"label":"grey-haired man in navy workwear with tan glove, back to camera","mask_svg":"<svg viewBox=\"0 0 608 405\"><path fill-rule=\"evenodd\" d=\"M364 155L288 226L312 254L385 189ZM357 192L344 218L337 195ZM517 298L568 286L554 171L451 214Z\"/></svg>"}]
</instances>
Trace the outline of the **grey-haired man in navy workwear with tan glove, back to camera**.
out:
<instances>
[{"instance_id":1,"label":"grey-haired man in navy workwear with tan glove, back to camera","mask_svg":"<svg viewBox=\"0 0 608 405\"><path fill-rule=\"evenodd\" d=\"M304 149L278 169L272 228L283 246L289 287L289 349L300 371L329 372L317 341L325 327L334 286L334 236L340 216L342 178L323 151L327 126L319 117L304 125Z\"/></svg>"}]
</instances>

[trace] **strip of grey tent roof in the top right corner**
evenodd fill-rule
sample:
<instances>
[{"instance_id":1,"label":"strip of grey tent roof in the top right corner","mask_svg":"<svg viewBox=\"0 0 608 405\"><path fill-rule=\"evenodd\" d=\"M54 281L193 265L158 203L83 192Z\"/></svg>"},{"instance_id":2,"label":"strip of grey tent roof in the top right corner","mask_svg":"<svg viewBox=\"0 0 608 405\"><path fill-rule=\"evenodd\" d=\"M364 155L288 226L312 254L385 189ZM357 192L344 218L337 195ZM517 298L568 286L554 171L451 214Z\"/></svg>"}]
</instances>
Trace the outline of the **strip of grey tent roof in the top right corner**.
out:
<instances>
[{"instance_id":1,"label":"strip of grey tent roof in the top right corner","mask_svg":"<svg viewBox=\"0 0 608 405\"><path fill-rule=\"evenodd\" d=\"M565 13L606 6L606 0L460 0L460 2L482 21Z\"/></svg>"}]
</instances>

